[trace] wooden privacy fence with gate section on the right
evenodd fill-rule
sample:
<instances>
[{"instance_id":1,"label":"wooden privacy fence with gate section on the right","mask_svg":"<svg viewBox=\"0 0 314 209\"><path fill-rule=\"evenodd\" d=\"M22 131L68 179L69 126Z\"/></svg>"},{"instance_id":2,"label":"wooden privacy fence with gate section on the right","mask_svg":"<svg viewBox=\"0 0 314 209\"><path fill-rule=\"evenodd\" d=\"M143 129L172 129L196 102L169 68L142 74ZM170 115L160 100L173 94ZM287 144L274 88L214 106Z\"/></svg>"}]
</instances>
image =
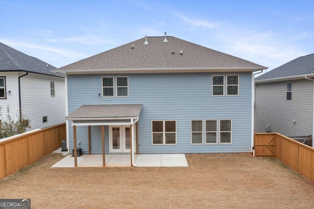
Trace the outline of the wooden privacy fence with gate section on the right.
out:
<instances>
[{"instance_id":1,"label":"wooden privacy fence with gate section on the right","mask_svg":"<svg viewBox=\"0 0 314 209\"><path fill-rule=\"evenodd\" d=\"M314 182L314 148L279 133L255 133L255 156L275 157Z\"/></svg>"}]
</instances>

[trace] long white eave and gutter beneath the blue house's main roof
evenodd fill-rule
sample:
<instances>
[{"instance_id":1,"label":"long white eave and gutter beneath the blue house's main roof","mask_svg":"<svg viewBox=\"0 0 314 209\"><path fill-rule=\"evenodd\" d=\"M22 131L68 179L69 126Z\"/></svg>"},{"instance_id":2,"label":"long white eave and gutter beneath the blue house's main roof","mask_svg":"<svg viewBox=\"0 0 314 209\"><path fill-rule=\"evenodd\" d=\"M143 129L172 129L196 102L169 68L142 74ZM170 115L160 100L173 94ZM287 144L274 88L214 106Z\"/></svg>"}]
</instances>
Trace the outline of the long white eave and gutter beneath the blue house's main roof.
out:
<instances>
[{"instance_id":1,"label":"long white eave and gutter beneath the blue house's main roof","mask_svg":"<svg viewBox=\"0 0 314 209\"><path fill-rule=\"evenodd\" d=\"M52 70L53 73L64 74L98 74L98 73L194 73L194 72L230 72L230 71L259 71L267 67L204 67L204 68L128 68L128 69L81 69L81 70Z\"/></svg>"}]
</instances>

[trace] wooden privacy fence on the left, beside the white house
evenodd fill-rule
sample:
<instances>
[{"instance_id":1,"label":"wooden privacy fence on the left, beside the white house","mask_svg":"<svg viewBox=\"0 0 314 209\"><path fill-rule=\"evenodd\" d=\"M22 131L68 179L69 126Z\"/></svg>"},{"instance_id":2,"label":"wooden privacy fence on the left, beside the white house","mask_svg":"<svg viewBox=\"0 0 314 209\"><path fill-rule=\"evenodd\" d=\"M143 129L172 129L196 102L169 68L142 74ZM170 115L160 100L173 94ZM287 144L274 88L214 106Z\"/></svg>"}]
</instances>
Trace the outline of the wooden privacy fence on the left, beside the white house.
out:
<instances>
[{"instance_id":1,"label":"wooden privacy fence on the left, beside the white house","mask_svg":"<svg viewBox=\"0 0 314 209\"><path fill-rule=\"evenodd\" d=\"M60 148L64 139L65 123L0 140L0 179Z\"/></svg>"}]
</instances>

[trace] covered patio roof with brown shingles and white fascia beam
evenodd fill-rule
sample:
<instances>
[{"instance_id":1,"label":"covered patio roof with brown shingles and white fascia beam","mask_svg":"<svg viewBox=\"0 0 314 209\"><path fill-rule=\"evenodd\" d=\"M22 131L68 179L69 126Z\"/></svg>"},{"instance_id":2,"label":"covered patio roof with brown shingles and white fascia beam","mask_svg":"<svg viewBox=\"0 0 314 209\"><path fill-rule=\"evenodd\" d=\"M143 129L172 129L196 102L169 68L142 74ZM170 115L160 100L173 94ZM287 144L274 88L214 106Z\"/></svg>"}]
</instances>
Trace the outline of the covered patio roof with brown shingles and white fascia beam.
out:
<instances>
[{"instance_id":1,"label":"covered patio roof with brown shingles and white fascia beam","mask_svg":"<svg viewBox=\"0 0 314 209\"><path fill-rule=\"evenodd\" d=\"M84 104L65 117L73 126L131 125L136 123L142 104Z\"/></svg>"}]
</instances>

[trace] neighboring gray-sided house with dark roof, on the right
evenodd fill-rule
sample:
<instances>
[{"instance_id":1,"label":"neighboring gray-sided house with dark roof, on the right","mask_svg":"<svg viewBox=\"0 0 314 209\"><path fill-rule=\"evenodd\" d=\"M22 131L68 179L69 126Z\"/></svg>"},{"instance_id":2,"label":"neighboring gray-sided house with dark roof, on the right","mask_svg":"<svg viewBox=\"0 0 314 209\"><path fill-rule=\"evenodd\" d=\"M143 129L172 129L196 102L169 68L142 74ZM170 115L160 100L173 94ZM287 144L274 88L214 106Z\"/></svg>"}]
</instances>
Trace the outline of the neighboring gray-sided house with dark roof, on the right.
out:
<instances>
[{"instance_id":1,"label":"neighboring gray-sided house with dark roof, on the right","mask_svg":"<svg viewBox=\"0 0 314 209\"><path fill-rule=\"evenodd\" d=\"M255 78L255 132L313 135L314 54Z\"/></svg>"}]
</instances>

